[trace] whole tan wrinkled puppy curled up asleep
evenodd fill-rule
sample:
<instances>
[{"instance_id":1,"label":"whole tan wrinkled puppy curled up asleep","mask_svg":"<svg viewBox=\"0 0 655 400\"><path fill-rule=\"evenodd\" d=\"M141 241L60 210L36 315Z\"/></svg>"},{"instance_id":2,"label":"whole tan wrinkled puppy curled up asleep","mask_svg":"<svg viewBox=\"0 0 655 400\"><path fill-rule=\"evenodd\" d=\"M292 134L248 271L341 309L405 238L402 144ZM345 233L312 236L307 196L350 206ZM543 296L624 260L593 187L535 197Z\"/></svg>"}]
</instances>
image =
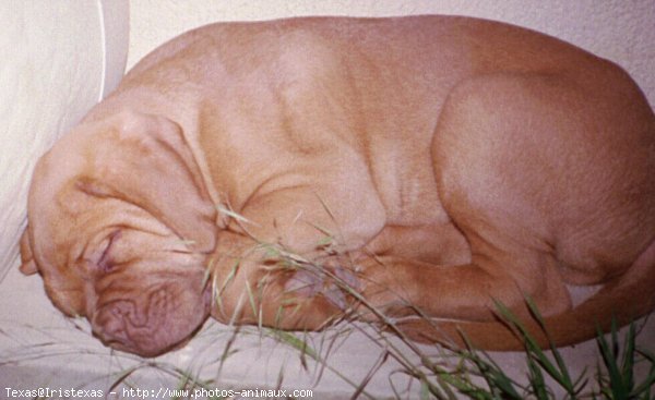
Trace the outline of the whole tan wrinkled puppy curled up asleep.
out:
<instances>
[{"instance_id":1,"label":"whole tan wrinkled puppy curled up asleep","mask_svg":"<svg viewBox=\"0 0 655 400\"><path fill-rule=\"evenodd\" d=\"M644 96L605 60L472 19L182 35L41 158L28 210L22 270L142 355L209 315L319 329L414 306L436 318L405 322L414 338L515 349L493 300L538 335L529 295L558 344L655 306ZM573 306L568 284L602 288Z\"/></svg>"}]
</instances>

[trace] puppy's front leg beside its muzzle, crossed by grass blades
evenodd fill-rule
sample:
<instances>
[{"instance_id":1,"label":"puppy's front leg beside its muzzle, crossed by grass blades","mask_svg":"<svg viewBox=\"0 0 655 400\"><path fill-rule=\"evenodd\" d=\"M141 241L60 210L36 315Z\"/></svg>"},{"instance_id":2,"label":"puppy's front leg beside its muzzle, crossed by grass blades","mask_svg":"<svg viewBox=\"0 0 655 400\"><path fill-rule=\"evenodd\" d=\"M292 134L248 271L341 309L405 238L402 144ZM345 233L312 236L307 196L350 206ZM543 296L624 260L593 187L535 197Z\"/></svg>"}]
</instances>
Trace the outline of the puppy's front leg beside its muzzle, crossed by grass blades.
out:
<instances>
[{"instance_id":1,"label":"puppy's front leg beside its muzzle, crossed by grass blades","mask_svg":"<svg viewBox=\"0 0 655 400\"><path fill-rule=\"evenodd\" d=\"M212 316L226 324L318 330L344 315L332 280L342 270L311 263L278 244L224 232L210 266ZM345 278L349 279L349 278Z\"/></svg>"}]
</instances>

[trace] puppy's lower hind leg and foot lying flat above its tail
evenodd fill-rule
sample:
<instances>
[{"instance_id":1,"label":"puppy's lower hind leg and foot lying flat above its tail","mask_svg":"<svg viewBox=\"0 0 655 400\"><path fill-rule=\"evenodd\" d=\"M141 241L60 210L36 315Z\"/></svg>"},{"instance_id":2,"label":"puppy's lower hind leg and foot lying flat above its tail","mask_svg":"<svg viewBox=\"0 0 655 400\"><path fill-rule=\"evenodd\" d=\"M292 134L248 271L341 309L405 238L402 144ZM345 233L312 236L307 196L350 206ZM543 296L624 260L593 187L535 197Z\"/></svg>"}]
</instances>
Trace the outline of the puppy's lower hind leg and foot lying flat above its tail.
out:
<instances>
[{"instance_id":1,"label":"puppy's lower hind leg and foot lying flat above its tail","mask_svg":"<svg viewBox=\"0 0 655 400\"><path fill-rule=\"evenodd\" d=\"M458 320L492 320L495 301L526 317L525 298L532 298L545 315L568 310L569 294L555 264L547 257L476 256L465 265L440 266L396 256L369 257L358 263L365 319L379 315L420 315ZM539 259L540 258L540 259ZM532 268L534 276L516 274Z\"/></svg>"}]
</instances>

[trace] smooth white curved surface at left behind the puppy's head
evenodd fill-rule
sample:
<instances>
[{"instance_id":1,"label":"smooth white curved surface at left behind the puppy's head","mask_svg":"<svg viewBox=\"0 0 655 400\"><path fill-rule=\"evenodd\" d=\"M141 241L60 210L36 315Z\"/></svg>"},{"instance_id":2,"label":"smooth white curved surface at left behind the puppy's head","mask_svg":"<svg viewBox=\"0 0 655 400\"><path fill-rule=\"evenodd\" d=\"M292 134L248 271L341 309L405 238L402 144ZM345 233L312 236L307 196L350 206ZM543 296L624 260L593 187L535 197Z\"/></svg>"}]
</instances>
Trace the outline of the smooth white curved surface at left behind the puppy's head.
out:
<instances>
[{"instance_id":1,"label":"smooth white curved surface at left behind the puppy's head","mask_svg":"<svg viewBox=\"0 0 655 400\"><path fill-rule=\"evenodd\" d=\"M15 266L38 157L120 81L127 0L0 2L0 280Z\"/></svg>"}]
</instances>

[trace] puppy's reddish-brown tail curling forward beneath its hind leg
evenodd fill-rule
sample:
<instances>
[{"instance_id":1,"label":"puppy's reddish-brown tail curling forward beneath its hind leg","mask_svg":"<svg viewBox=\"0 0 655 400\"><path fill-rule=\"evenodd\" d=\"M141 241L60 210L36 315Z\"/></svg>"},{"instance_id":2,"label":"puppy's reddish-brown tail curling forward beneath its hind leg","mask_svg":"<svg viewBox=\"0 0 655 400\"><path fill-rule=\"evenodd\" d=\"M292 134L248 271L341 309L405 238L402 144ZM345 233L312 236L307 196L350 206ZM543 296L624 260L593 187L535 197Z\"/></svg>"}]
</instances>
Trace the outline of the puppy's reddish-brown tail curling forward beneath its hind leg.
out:
<instances>
[{"instance_id":1,"label":"puppy's reddish-brown tail curling forward beneath its hind leg","mask_svg":"<svg viewBox=\"0 0 655 400\"><path fill-rule=\"evenodd\" d=\"M577 343L607 332L612 319L629 324L655 308L655 241L638 257L628 271L603 287L586 301L562 313L544 317L544 327L535 319L522 320L527 332L541 348ZM438 322L416 319L403 323L402 330L419 342L443 342L463 348L463 336L476 349L522 350L524 341L507 322Z\"/></svg>"}]
</instances>

